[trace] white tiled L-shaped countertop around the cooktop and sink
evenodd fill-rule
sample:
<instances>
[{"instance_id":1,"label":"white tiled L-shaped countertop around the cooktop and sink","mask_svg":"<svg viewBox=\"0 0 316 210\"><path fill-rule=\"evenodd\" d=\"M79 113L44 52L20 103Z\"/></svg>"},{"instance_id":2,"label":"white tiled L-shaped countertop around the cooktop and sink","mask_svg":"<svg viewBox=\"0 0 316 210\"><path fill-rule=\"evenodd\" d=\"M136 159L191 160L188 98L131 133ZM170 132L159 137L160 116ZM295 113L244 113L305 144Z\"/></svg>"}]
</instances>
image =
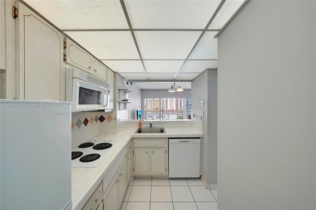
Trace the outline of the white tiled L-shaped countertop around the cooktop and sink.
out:
<instances>
[{"instance_id":1,"label":"white tiled L-shaped countertop around the cooktop and sink","mask_svg":"<svg viewBox=\"0 0 316 210\"><path fill-rule=\"evenodd\" d=\"M164 128L165 134L134 134L136 128L126 128L117 135L96 135L94 139L118 140L111 153L95 168L72 168L73 210L79 210L103 180L114 164L117 156L132 138L190 138L203 137L194 128Z\"/></svg>"}]
</instances>

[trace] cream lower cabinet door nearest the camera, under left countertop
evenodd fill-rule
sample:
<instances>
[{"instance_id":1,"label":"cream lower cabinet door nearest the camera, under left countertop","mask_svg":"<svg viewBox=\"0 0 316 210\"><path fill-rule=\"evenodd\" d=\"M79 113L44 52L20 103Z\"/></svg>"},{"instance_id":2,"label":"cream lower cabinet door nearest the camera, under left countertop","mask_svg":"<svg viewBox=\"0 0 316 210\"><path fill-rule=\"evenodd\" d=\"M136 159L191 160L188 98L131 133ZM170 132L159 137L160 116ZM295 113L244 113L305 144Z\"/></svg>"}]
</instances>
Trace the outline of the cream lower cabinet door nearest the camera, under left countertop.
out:
<instances>
[{"instance_id":1,"label":"cream lower cabinet door nearest the camera, under left countertop","mask_svg":"<svg viewBox=\"0 0 316 210\"><path fill-rule=\"evenodd\" d=\"M104 210L118 210L118 174L103 197Z\"/></svg>"}]
</instances>

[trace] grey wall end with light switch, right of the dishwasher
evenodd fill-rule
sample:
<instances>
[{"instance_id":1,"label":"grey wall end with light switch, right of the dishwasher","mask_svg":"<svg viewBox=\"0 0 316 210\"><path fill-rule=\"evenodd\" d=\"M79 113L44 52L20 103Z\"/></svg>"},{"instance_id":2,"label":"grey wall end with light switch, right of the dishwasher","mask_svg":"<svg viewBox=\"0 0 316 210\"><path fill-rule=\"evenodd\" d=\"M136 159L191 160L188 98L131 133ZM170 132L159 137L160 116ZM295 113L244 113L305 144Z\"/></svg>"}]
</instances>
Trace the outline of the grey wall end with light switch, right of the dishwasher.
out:
<instances>
[{"instance_id":1,"label":"grey wall end with light switch, right of the dishwasher","mask_svg":"<svg viewBox=\"0 0 316 210\"><path fill-rule=\"evenodd\" d=\"M191 91L192 109L203 111L200 172L212 188L217 184L217 70L205 70L198 75L192 81Z\"/></svg>"}]
</instances>

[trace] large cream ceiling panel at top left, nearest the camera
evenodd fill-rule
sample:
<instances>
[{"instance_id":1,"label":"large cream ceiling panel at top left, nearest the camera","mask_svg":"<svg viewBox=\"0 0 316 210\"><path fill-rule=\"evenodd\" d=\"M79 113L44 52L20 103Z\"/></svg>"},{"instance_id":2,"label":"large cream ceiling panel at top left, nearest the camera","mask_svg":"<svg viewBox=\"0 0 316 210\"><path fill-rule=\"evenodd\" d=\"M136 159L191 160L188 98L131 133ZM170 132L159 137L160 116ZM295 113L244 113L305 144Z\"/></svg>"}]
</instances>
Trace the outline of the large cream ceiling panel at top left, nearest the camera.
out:
<instances>
[{"instance_id":1,"label":"large cream ceiling panel at top left, nearest the camera","mask_svg":"<svg viewBox=\"0 0 316 210\"><path fill-rule=\"evenodd\" d=\"M129 29L118 0L25 0L60 29Z\"/></svg>"}]
</instances>

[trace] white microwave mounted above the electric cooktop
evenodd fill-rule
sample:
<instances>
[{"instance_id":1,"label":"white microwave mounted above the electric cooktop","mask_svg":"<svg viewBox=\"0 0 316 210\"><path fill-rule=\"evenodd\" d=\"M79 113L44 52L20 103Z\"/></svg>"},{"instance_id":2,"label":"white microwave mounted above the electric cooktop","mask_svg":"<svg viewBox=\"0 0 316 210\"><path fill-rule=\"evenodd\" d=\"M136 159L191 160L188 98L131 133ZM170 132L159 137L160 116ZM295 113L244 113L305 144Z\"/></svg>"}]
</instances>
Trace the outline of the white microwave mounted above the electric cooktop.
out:
<instances>
[{"instance_id":1,"label":"white microwave mounted above the electric cooktop","mask_svg":"<svg viewBox=\"0 0 316 210\"><path fill-rule=\"evenodd\" d=\"M66 68L66 101L72 111L93 111L109 107L110 84L82 70Z\"/></svg>"}]
</instances>

